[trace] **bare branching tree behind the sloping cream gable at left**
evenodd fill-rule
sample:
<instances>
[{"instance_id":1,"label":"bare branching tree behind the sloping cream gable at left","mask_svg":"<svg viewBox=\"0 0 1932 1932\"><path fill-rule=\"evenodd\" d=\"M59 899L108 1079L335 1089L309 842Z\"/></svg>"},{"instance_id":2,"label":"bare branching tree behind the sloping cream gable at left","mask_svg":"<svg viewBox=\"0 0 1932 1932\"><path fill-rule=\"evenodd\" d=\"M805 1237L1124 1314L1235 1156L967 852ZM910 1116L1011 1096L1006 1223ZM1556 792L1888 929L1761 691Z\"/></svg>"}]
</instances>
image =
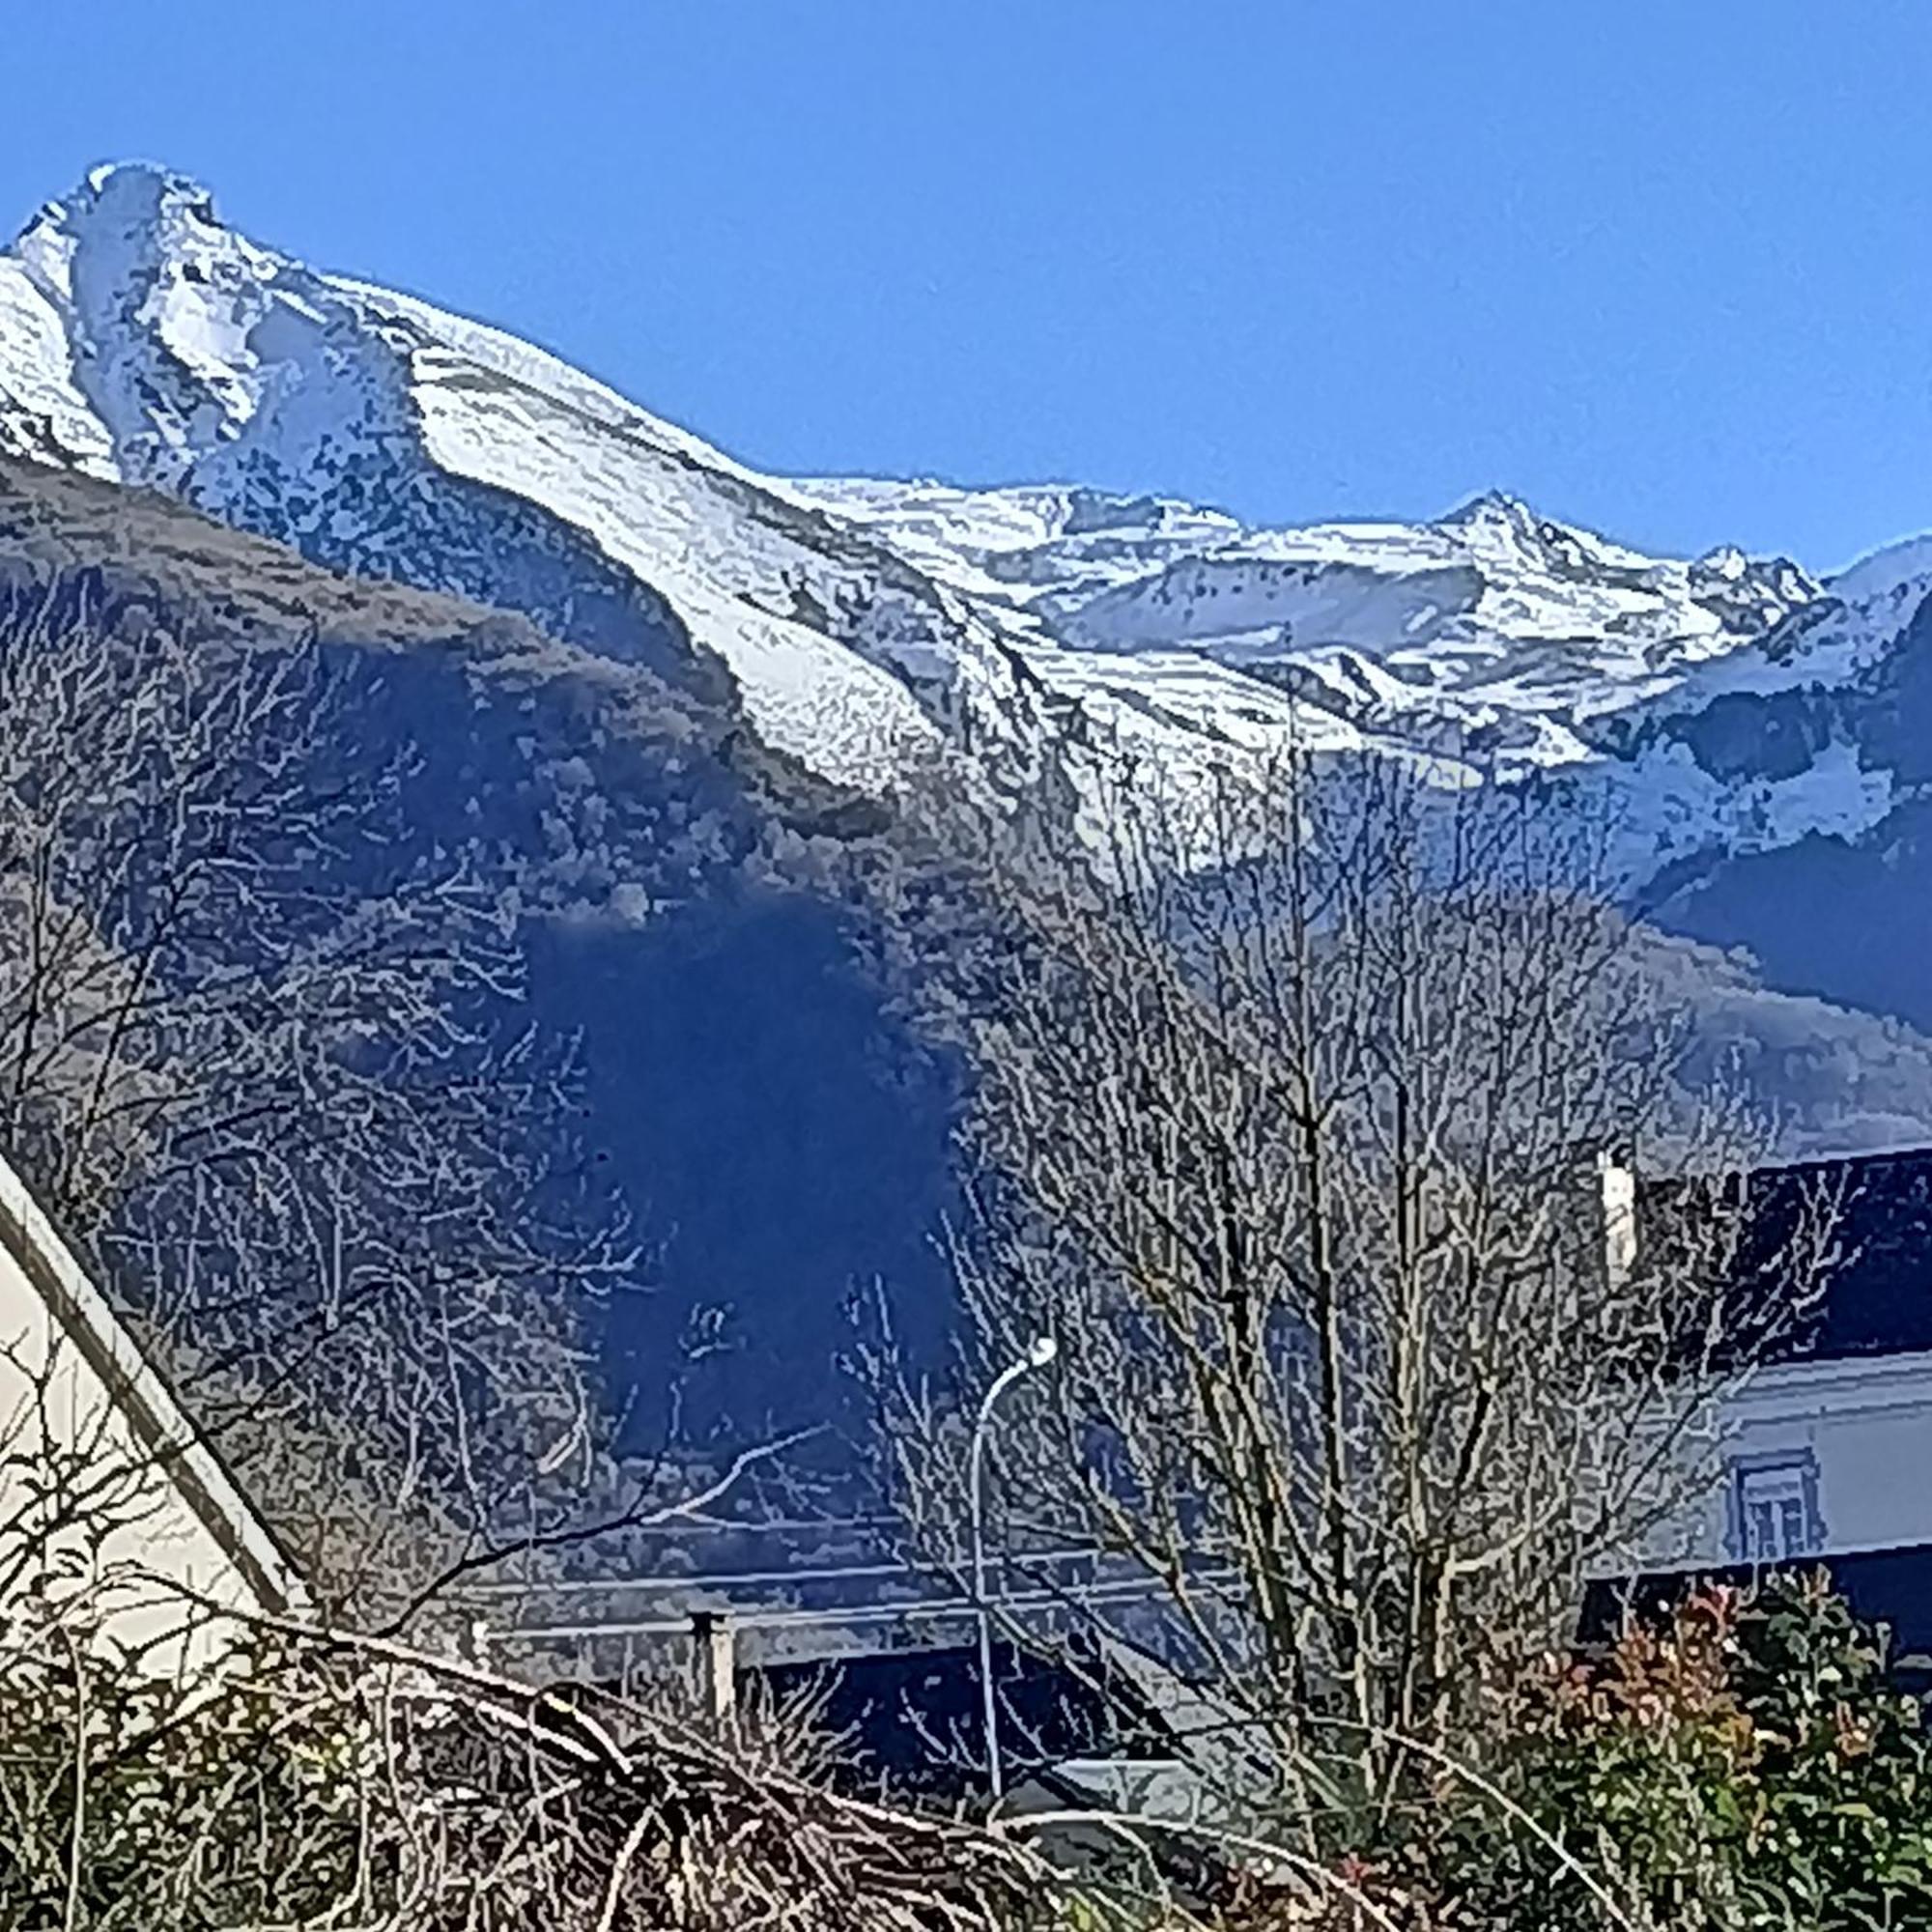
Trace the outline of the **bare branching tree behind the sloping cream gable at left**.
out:
<instances>
[{"instance_id":1,"label":"bare branching tree behind the sloping cream gable at left","mask_svg":"<svg viewBox=\"0 0 1932 1932\"><path fill-rule=\"evenodd\" d=\"M514 1022L514 879L359 757L352 655L10 593L0 1146L319 1582L412 1600L622 1515L585 1304L636 1250Z\"/></svg>"}]
</instances>

